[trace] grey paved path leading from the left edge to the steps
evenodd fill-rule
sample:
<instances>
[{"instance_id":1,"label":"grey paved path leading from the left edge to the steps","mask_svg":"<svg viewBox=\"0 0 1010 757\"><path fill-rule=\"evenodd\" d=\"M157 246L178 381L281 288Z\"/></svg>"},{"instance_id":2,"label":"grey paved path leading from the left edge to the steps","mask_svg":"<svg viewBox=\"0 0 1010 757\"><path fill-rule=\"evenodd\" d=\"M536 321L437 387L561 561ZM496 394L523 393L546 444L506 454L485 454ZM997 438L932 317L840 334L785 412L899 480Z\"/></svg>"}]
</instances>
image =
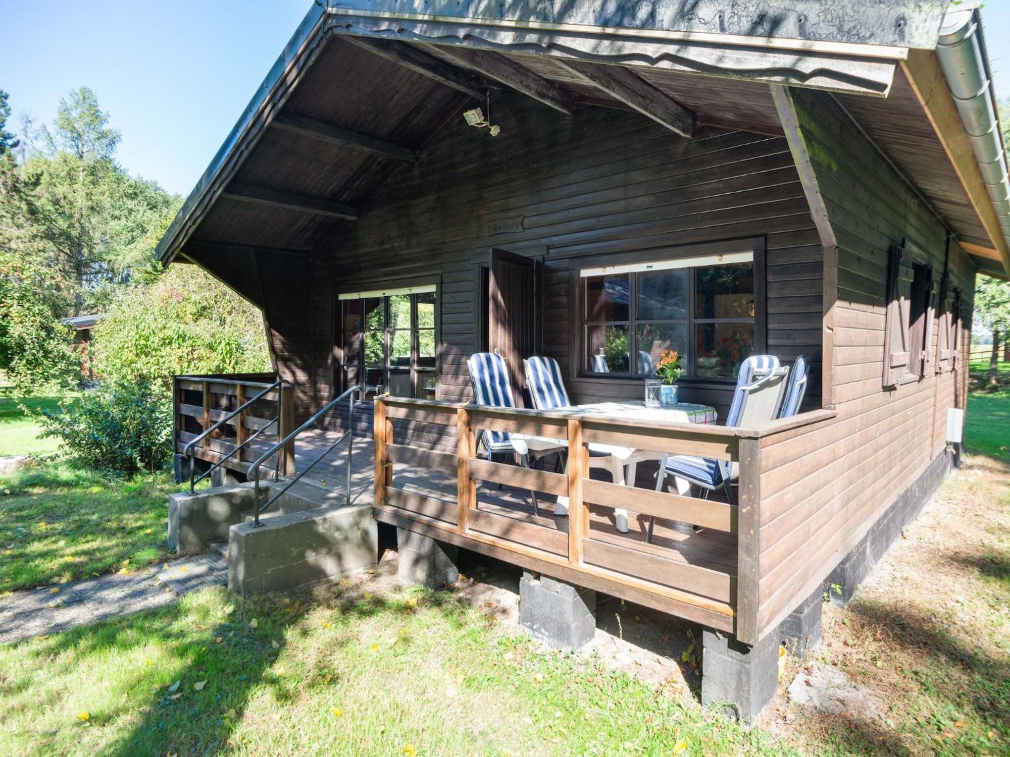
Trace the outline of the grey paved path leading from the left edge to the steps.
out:
<instances>
[{"instance_id":1,"label":"grey paved path leading from the left edge to the steps","mask_svg":"<svg viewBox=\"0 0 1010 757\"><path fill-rule=\"evenodd\" d=\"M0 644L150 610L187 591L228 582L228 564L216 552L167 564L168 568L160 563L132 574L100 575L4 597L0 599Z\"/></svg>"}]
</instances>

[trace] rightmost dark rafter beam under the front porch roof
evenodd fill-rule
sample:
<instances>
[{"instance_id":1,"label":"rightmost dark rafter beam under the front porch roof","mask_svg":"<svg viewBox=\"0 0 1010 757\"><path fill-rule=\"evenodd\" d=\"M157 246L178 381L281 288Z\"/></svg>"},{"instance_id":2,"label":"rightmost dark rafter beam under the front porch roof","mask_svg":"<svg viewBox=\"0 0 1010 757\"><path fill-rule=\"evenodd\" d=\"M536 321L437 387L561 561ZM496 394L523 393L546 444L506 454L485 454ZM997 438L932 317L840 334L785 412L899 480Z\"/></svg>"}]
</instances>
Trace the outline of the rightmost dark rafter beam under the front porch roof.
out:
<instances>
[{"instance_id":1,"label":"rightmost dark rafter beam under the front porch roof","mask_svg":"<svg viewBox=\"0 0 1010 757\"><path fill-rule=\"evenodd\" d=\"M698 122L694 111L685 108L633 71L622 66L603 66L585 61L554 63L586 84L634 108L671 131L676 131L681 136L694 136Z\"/></svg>"}]
</instances>

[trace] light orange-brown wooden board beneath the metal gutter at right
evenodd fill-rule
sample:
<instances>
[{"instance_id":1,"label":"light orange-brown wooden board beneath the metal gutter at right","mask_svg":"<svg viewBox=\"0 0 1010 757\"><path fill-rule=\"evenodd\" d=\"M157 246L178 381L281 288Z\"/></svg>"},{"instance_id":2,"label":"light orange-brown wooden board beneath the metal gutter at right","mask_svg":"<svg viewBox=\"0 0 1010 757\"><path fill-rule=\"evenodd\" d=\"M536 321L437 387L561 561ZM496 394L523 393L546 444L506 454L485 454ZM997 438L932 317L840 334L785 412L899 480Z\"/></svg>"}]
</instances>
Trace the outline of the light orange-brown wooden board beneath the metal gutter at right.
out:
<instances>
[{"instance_id":1,"label":"light orange-brown wooden board beneath the metal gutter at right","mask_svg":"<svg viewBox=\"0 0 1010 757\"><path fill-rule=\"evenodd\" d=\"M910 49L908 60L901 62L901 70L908 77L912 91L915 92L915 97L936 132L936 138L943 145L972 207L975 208L979 220L982 221L993 242L993 247L999 250L1003 264L1010 273L1010 246L1003 236L996 209L986 191L982 171L968 140L964 122L953 103L950 88L940 69L936 52L931 49Z\"/></svg>"}]
</instances>

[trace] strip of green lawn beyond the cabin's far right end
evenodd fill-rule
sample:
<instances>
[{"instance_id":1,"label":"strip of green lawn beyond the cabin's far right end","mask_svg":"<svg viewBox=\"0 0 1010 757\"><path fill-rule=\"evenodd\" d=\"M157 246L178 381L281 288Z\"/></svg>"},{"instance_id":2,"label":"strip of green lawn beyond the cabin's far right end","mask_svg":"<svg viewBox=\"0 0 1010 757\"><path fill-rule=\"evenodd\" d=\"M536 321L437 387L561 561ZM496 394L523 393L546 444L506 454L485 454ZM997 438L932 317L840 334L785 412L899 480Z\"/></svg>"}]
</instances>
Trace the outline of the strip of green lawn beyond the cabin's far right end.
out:
<instances>
[{"instance_id":1,"label":"strip of green lawn beyond the cabin's far right end","mask_svg":"<svg viewBox=\"0 0 1010 757\"><path fill-rule=\"evenodd\" d=\"M998 366L997 386L990 387L989 361L971 363L965 449L1010 462L1010 362Z\"/></svg>"}]
</instances>

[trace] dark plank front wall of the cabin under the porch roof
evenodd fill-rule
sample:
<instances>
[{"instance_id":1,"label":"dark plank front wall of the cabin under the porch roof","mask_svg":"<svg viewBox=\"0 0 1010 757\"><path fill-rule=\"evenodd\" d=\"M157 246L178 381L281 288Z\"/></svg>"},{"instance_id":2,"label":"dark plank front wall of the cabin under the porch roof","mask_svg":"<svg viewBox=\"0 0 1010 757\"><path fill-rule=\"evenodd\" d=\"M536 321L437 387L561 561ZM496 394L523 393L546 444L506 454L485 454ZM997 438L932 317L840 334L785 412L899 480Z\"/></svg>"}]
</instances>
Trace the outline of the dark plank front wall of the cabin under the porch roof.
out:
<instances>
[{"instance_id":1,"label":"dark plank front wall of the cabin under the porch roof","mask_svg":"<svg viewBox=\"0 0 1010 757\"><path fill-rule=\"evenodd\" d=\"M543 351L568 372L580 257L764 237L768 349L785 361L806 354L819 387L821 247L783 137L703 128L689 140L636 113L586 107L566 117L518 95L492 99L491 120L498 137L451 118L357 223L314 250L313 351L302 361L317 405L335 390L335 295L431 282L440 285L438 397L469 399L475 273L492 246L542 256ZM522 230L486 233L517 218ZM586 379L569 391L574 402L638 398L641 382ZM682 390L722 413L730 396L731 386ZM808 402L819 403L816 392Z\"/></svg>"}]
</instances>

